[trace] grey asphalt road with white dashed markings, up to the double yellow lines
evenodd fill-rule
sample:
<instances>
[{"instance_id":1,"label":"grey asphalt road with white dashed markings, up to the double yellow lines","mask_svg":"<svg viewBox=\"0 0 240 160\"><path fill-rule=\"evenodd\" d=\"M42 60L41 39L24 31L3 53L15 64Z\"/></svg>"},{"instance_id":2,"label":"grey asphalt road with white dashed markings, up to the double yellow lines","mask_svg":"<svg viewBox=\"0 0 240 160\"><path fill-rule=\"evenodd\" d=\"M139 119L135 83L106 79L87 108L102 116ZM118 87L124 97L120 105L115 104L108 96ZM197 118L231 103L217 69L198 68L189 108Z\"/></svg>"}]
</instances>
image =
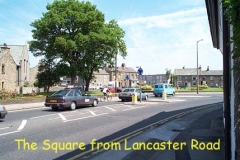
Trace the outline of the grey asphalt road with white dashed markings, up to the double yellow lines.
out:
<instances>
[{"instance_id":1,"label":"grey asphalt road with white dashed markings, up to the double yellow lines","mask_svg":"<svg viewBox=\"0 0 240 160\"><path fill-rule=\"evenodd\" d=\"M223 101L220 93L176 94L171 103L149 97L141 105L102 102L75 111L37 108L9 112L0 121L0 157L7 159L67 159L85 152L94 139L108 142L154 122L205 104Z\"/></svg>"}]
</instances>

